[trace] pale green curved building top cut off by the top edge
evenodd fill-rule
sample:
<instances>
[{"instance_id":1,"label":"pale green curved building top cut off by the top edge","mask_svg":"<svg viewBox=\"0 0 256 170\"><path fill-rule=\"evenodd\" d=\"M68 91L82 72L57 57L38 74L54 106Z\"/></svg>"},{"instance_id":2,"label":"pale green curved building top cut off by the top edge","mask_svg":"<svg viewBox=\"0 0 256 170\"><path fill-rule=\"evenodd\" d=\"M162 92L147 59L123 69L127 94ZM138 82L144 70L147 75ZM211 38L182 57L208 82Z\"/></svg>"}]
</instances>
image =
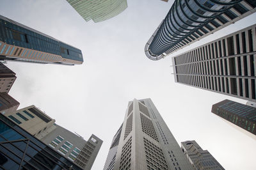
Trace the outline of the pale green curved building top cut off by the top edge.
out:
<instances>
[{"instance_id":1,"label":"pale green curved building top cut off by the top edge","mask_svg":"<svg viewBox=\"0 0 256 170\"><path fill-rule=\"evenodd\" d=\"M101 22L111 19L127 8L127 0L67 0L84 20Z\"/></svg>"}]
</instances>

